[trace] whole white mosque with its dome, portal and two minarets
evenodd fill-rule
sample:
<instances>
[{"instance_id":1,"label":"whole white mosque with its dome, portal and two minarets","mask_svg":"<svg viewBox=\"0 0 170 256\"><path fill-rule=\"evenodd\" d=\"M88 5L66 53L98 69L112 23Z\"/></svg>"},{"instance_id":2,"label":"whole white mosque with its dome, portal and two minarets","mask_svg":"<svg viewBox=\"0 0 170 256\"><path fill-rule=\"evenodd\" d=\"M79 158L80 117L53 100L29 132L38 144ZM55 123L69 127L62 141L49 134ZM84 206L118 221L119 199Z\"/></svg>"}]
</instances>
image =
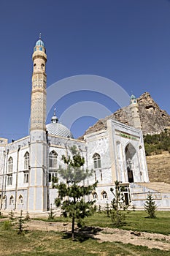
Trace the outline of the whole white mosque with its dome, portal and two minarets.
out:
<instances>
[{"instance_id":1,"label":"whole white mosque with its dome, portal and two minarets","mask_svg":"<svg viewBox=\"0 0 170 256\"><path fill-rule=\"evenodd\" d=\"M120 181L126 204L143 208L150 190L159 207L170 207L167 195L146 186L150 183L136 97L131 96L131 127L108 120L106 129L85 135L84 140L74 139L72 132L58 123L55 111L51 123L45 124L47 55L42 39L36 42L32 60L30 133L12 143L0 138L1 211L42 213L51 204L55 208L57 190L52 187L52 178L58 176L59 165L64 167L61 157L70 155L72 146L85 158L85 167L93 169L93 176L85 182L98 181L88 198L95 199L96 205L110 203L110 188Z\"/></svg>"}]
</instances>

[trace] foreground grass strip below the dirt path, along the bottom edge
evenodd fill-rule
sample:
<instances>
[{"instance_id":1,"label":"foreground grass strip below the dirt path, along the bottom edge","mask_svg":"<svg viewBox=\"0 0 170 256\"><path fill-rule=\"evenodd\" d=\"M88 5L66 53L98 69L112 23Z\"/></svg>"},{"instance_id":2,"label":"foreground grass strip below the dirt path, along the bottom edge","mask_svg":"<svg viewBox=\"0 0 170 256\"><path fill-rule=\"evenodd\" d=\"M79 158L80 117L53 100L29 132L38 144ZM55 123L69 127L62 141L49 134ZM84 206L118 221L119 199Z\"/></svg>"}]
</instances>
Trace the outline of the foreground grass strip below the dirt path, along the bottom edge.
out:
<instances>
[{"instance_id":1,"label":"foreground grass strip below the dirt path, along the bottom edge","mask_svg":"<svg viewBox=\"0 0 170 256\"><path fill-rule=\"evenodd\" d=\"M148 249L146 246L134 246L118 242L98 243L96 239L86 238L72 241L66 234L55 232L30 231L18 235L16 230L1 230L0 255L2 256L73 256L73 255L141 255L168 256L169 252Z\"/></svg>"}]
</instances>

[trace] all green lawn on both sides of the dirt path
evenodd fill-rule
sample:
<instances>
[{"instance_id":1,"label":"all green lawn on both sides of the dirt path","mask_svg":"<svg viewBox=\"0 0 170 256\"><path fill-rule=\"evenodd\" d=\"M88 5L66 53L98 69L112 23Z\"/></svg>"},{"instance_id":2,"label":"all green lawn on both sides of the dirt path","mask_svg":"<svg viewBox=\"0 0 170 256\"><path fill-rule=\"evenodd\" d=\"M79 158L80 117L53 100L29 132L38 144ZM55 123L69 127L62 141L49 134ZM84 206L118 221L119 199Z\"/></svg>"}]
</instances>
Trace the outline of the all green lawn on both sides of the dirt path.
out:
<instances>
[{"instance_id":1,"label":"all green lawn on both sides of the dirt path","mask_svg":"<svg viewBox=\"0 0 170 256\"><path fill-rule=\"evenodd\" d=\"M126 224L122 227L126 230L147 231L152 233L170 233L170 212L157 211L156 219L146 218L144 211L131 211L127 214ZM57 221L66 222L63 217L56 218ZM0 255L2 256L72 256L72 255L141 255L141 256L168 256L170 252L159 249L148 249L146 246L134 246L120 242L99 243L94 238L77 237L72 241L69 234L54 231L26 231L18 235L18 230L3 230L3 222L0 222ZM69 221L69 219L67 219ZM107 214L96 213L85 219L85 225L112 227L111 218Z\"/></svg>"}]
</instances>

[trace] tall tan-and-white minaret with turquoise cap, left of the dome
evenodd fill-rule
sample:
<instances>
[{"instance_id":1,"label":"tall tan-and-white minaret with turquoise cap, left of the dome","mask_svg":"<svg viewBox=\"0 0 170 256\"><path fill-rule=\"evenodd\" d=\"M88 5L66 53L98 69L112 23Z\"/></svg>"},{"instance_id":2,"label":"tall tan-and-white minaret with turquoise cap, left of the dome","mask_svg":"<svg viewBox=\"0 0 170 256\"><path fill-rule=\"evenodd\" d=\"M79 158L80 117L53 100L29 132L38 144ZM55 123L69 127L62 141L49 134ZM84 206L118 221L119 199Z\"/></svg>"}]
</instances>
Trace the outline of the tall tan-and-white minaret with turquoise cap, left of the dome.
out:
<instances>
[{"instance_id":1,"label":"tall tan-and-white minaret with turquoise cap, left of the dome","mask_svg":"<svg viewBox=\"0 0 170 256\"><path fill-rule=\"evenodd\" d=\"M47 55L41 37L34 47L28 211L47 211L46 73Z\"/></svg>"}]
</instances>

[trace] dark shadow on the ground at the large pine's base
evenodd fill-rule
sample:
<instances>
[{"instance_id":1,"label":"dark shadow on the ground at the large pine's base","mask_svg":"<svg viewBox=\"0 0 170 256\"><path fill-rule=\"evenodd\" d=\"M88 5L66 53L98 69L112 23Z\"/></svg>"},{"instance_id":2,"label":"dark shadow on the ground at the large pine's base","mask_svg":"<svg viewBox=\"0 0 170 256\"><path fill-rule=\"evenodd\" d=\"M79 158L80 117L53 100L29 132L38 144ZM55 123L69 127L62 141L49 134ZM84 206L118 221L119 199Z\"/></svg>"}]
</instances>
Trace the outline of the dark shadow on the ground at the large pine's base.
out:
<instances>
[{"instance_id":1,"label":"dark shadow on the ground at the large pine's base","mask_svg":"<svg viewBox=\"0 0 170 256\"><path fill-rule=\"evenodd\" d=\"M100 227L82 227L81 229L75 230L75 238L73 241L79 241L80 243L87 241L88 239L96 239L94 235L100 232L102 229ZM72 238L72 233L67 232L63 234L63 239L70 239Z\"/></svg>"}]
</instances>

